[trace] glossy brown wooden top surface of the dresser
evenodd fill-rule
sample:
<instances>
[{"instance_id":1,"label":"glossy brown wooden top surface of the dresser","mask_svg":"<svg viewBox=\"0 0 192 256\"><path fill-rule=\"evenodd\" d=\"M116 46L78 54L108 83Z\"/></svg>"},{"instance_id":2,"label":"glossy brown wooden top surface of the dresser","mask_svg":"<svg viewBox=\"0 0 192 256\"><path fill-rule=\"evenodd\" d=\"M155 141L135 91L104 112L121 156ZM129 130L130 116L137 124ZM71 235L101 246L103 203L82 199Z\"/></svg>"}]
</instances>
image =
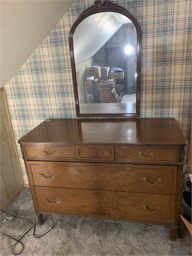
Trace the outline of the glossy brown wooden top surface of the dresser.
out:
<instances>
[{"instance_id":1,"label":"glossy brown wooden top surface of the dresser","mask_svg":"<svg viewBox=\"0 0 192 256\"><path fill-rule=\"evenodd\" d=\"M160 119L50 119L42 122L19 143L102 143L185 145L173 118Z\"/></svg>"}]
</instances>

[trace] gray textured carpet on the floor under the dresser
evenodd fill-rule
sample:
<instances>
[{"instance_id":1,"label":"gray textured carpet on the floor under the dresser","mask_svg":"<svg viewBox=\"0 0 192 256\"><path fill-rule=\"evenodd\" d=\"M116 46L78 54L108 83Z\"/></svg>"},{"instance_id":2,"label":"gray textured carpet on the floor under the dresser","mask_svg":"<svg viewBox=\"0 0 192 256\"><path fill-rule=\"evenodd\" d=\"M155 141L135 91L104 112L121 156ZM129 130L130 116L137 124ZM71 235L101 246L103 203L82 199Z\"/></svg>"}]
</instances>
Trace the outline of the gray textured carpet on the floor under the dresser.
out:
<instances>
[{"instance_id":1,"label":"gray textured carpet on the floor under the dresser","mask_svg":"<svg viewBox=\"0 0 192 256\"><path fill-rule=\"evenodd\" d=\"M9 205L7 211L37 222L31 193L24 189ZM27 221L11 219L3 222L1 232L20 238L31 227ZM191 255L191 237L170 240L170 230L161 225L147 225L124 221L98 220L71 216L46 215L55 221L55 228L40 239L33 238L32 230L22 239L21 255ZM45 232L51 223L37 225L37 234ZM1 235L1 255L12 255L9 238Z\"/></svg>"}]
</instances>

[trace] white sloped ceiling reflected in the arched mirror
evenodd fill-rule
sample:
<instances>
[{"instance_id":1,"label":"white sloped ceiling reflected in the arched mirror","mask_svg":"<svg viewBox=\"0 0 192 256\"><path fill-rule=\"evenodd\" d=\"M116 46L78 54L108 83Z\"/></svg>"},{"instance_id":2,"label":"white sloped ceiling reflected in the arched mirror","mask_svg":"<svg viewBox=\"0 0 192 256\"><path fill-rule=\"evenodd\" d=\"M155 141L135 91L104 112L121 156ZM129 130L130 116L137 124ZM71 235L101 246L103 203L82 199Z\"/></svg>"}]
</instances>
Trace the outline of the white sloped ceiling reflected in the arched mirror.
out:
<instances>
[{"instance_id":1,"label":"white sloped ceiling reflected in the arched mirror","mask_svg":"<svg viewBox=\"0 0 192 256\"><path fill-rule=\"evenodd\" d=\"M83 19L73 33L75 62L91 58L125 23L131 20L113 12L96 13Z\"/></svg>"}]
</instances>

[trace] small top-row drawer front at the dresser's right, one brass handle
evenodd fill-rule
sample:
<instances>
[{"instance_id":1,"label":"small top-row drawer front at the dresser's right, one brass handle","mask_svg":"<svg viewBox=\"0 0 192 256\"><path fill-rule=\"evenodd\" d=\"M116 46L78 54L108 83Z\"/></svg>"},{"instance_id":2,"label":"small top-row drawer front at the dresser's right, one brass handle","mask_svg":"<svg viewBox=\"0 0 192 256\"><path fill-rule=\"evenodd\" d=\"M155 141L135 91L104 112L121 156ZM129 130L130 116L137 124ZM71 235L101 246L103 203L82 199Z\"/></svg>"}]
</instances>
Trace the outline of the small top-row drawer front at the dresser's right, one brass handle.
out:
<instances>
[{"instance_id":1,"label":"small top-row drawer front at the dresser's right, one brass handle","mask_svg":"<svg viewBox=\"0 0 192 256\"><path fill-rule=\"evenodd\" d=\"M163 161L177 162L176 148L162 147L115 147L115 160L118 161Z\"/></svg>"}]
</instances>

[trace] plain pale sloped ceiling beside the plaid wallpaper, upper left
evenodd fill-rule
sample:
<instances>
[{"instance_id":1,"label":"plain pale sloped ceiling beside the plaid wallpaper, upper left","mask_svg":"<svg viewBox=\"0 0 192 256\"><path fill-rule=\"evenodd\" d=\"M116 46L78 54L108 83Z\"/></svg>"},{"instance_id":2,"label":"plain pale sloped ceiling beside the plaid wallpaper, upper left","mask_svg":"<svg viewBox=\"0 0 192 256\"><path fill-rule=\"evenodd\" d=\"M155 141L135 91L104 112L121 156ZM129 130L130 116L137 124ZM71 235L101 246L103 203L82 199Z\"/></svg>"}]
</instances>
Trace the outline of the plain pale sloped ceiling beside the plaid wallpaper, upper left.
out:
<instances>
[{"instance_id":1,"label":"plain pale sloped ceiling beside the plaid wallpaper, upper left","mask_svg":"<svg viewBox=\"0 0 192 256\"><path fill-rule=\"evenodd\" d=\"M0 0L0 87L4 87L13 78L73 2Z\"/></svg>"}]
</instances>

